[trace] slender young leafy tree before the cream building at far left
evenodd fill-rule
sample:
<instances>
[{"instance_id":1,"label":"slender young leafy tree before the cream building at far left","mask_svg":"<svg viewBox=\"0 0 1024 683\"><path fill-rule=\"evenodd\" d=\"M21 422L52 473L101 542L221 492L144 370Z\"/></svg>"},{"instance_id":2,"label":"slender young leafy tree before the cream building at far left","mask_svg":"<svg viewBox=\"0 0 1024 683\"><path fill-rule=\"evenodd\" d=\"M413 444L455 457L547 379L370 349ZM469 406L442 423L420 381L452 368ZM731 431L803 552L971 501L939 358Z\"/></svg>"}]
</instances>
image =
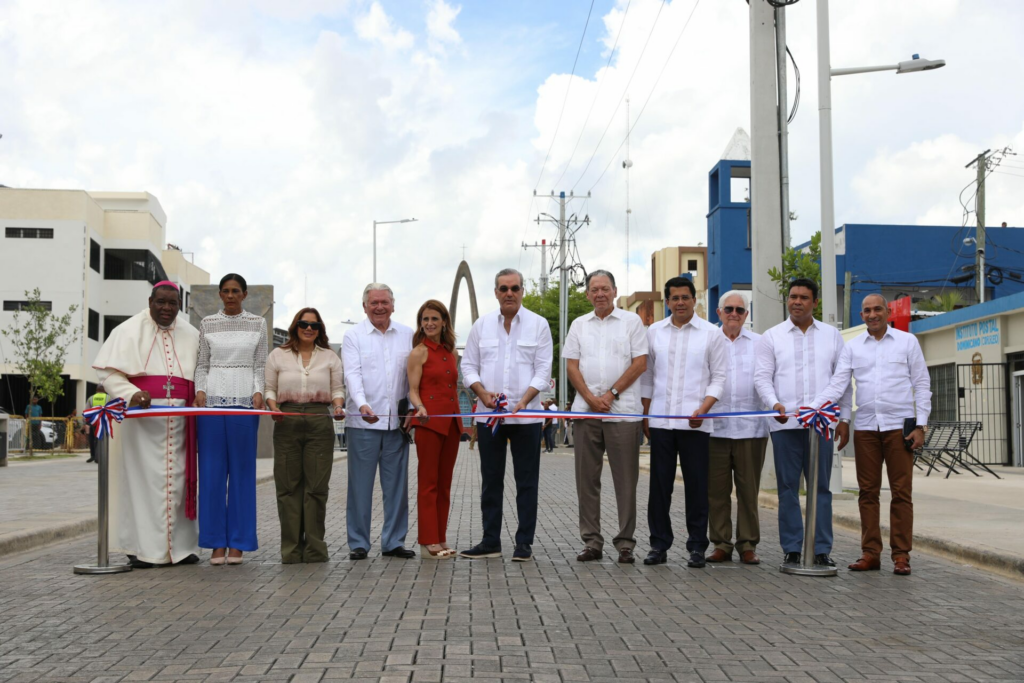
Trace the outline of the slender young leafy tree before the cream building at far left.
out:
<instances>
[{"instance_id":1,"label":"slender young leafy tree before the cream building at far left","mask_svg":"<svg viewBox=\"0 0 1024 683\"><path fill-rule=\"evenodd\" d=\"M78 341L78 328L72 327L72 314L78 306L72 305L68 312L57 317L40 302L39 288L26 292L28 305L14 313L10 328L0 330L14 348L14 367L29 381L30 398L41 398L53 402L63 395L63 370L68 348ZM31 432L31 429L30 429ZM33 439L29 438L29 454L32 454Z\"/></svg>"}]
</instances>

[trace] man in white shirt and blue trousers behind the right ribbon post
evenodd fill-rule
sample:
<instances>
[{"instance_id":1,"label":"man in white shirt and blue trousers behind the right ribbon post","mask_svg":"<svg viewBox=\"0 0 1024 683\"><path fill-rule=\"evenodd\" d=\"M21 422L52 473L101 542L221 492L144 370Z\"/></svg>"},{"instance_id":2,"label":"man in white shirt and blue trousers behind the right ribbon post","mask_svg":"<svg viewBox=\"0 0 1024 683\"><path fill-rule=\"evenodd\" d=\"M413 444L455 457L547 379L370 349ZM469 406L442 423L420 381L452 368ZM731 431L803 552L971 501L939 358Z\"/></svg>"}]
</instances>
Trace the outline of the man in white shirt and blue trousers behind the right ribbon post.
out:
<instances>
[{"instance_id":1,"label":"man in white shirt and blue trousers behind the right ribbon post","mask_svg":"<svg viewBox=\"0 0 1024 683\"><path fill-rule=\"evenodd\" d=\"M818 285L798 279L790 283L786 308L790 317L767 330L758 341L754 386L765 405L779 416L769 423L778 482L778 536L786 564L800 564L804 520L800 513L800 478L808 471L810 438L818 439L818 501L815 511L814 563L836 566L833 546L831 478L833 441L805 429L796 418L784 417L802 407L821 408L814 398L831 381L843 350L843 335L814 319ZM837 450L850 440L850 390L839 399Z\"/></svg>"}]
</instances>

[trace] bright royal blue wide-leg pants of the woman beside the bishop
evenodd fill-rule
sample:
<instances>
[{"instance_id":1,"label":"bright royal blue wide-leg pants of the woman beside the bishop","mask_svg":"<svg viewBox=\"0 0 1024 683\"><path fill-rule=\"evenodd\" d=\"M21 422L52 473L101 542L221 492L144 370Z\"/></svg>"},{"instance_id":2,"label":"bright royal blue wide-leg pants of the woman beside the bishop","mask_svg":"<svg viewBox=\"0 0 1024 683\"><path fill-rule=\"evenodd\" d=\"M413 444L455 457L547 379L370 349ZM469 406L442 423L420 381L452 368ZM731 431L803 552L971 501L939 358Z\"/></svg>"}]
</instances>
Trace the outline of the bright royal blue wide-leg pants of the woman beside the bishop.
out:
<instances>
[{"instance_id":1,"label":"bright royal blue wide-leg pants of the woman beside the bishop","mask_svg":"<svg viewBox=\"0 0 1024 683\"><path fill-rule=\"evenodd\" d=\"M199 545L252 552L256 540L256 433L259 416L197 419Z\"/></svg>"}]
</instances>

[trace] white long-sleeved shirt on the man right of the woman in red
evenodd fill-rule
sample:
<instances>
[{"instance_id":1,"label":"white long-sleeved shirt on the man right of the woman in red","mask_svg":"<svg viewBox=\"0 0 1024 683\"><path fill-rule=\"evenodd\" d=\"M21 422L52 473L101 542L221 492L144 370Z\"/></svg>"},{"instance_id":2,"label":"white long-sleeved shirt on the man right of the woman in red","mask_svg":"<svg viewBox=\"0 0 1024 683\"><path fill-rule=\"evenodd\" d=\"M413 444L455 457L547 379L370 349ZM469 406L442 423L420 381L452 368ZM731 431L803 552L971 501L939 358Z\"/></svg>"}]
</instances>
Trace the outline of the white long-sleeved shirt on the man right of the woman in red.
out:
<instances>
[{"instance_id":1,"label":"white long-sleeved shirt on the man right of the woman in red","mask_svg":"<svg viewBox=\"0 0 1024 683\"><path fill-rule=\"evenodd\" d=\"M555 345L551 341L548 321L522 306L512 318L509 332L505 332L505 317L501 310L480 316L473 324L462 354L462 382L467 389L479 382L484 390L504 393L508 397L507 410L511 411L522 400L526 389L534 387L545 391L551 382L551 362ZM538 394L526 408L543 410ZM489 412L481 405L478 410ZM477 418L486 422L487 418ZM515 418L507 424L543 422L542 418Z\"/></svg>"}]
</instances>

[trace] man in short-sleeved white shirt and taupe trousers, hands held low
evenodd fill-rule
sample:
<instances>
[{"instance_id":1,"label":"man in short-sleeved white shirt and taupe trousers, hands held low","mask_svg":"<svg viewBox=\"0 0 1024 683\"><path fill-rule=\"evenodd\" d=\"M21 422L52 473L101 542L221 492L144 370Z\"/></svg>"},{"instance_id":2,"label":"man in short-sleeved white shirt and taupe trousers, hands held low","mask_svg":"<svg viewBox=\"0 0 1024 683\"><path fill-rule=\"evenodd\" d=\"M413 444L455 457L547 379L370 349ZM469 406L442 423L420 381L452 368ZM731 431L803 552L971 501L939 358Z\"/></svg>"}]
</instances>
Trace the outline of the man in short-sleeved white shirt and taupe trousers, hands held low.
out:
<instances>
[{"instance_id":1,"label":"man in short-sleeved white shirt and taupe trousers, hands held low","mask_svg":"<svg viewBox=\"0 0 1024 683\"><path fill-rule=\"evenodd\" d=\"M647 368L647 333L636 313L615 308L615 279L607 270L587 275L587 299L594 310L572 321L562 359L575 387L574 413L640 412L636 381ZM581 562L603 556L601 536L601 470L604 453L615 486L618 532L612 540L618 561L632 564L637 525L637 481L640 478L640 418L575 420L575 477L580 500Z\"/></svg>"}]
</instances>

